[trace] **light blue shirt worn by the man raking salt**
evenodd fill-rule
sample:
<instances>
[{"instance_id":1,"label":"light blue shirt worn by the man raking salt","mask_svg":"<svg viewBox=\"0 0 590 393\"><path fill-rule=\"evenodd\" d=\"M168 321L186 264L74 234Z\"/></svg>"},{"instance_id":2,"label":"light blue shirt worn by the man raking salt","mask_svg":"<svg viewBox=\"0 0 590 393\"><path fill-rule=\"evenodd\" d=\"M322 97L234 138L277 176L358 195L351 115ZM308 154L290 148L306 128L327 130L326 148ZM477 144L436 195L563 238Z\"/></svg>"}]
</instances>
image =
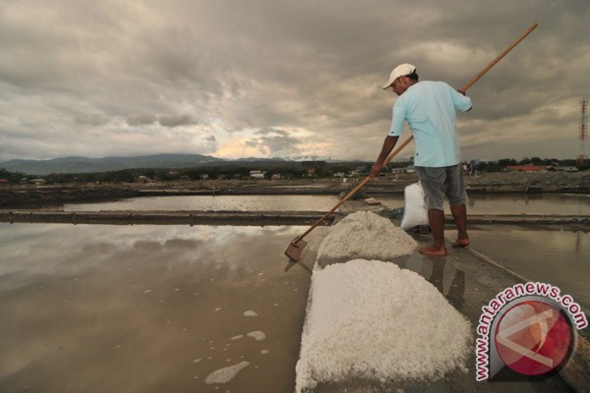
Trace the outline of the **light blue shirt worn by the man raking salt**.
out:
<instances>
[{"instance_id":1,"label":"light blue shirt worn by the man raking salt","mask_svg":"<svg viewBox=\"0 0 590 393\"><path fill-rule=\"evenodd\" d=\"M389 136L401 136L404 121L414 134L414 165L447 167L460 163L455 110L467 111L471 100L445 82L411 85L395 101Z\"/></svg>"}]
</instances>

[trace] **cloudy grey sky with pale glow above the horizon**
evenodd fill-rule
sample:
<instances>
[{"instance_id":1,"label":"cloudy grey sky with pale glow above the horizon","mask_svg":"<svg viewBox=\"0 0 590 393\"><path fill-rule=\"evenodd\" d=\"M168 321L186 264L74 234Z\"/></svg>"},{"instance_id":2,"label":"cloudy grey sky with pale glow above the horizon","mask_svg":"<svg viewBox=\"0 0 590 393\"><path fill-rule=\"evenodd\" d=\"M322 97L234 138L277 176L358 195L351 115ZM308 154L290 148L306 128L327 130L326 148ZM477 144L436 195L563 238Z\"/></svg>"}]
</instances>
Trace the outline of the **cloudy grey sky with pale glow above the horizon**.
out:
<instances>
[{"instance_id":1,"label":"cloudy grey sky with pale glow above the horizon","mask_svg":"<svg viewBox=\"0 0 590 393\"><path fill-rule=\"evenodd\" d=\"M590 97L588 0L0 3L0 160L374 160L395 65L458 88L533 22L467 92L463 157L573 158Z\"/></svg>"}]
</instances>

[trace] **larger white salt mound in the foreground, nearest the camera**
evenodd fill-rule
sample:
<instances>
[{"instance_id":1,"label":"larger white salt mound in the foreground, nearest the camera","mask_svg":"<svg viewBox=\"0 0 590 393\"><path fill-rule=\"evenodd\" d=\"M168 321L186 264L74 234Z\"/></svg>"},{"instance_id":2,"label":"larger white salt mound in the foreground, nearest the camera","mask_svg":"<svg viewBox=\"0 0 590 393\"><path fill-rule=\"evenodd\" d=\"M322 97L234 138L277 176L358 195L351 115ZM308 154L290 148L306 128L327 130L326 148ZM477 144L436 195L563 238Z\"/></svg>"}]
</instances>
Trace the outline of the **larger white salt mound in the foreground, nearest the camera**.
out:
<instances>
[{"instance_id":1,"label":"larger white salt mound in the foreground, nearest the camera","mask_svg":"<svg viewBox=\"0 0 590 393\"><path fill-rule=\"evenodd\" d=\"M345 378L440 378L463 366L470 342L470 323L417 273L337 263L312 276L296 391Z\"/></svg>"}]
</instances>

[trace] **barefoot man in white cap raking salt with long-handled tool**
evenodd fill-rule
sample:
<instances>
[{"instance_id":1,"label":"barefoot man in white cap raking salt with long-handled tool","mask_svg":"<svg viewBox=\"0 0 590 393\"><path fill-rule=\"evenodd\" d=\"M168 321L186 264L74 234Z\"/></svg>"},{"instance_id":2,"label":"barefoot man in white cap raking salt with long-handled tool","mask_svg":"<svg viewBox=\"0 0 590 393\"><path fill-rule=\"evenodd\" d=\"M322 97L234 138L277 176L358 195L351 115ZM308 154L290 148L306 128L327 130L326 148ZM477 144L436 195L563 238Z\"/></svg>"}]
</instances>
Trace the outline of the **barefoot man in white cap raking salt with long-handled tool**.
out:
<instances>
[{"instance_id":1,"label":"barefoot man in white cap raking salt with long-handled tool","mask_svg":"<svg viewBox=\"0 0 590 393\"><path fill-rule=\"evenodd\" d=\"M461 173L461 153L457 137L455 110L468 111L471 100L465 92L455 91L445 82L418 82L416 67L401 64L391 71L383 90L391 88L399 98L395 101L388 136L377 161L371 169L375 176L383 168L383 161L395 147L408 122L416 152L414 166L428 208L428 221L434 244L421 249L424 255L445 256L444 210L442 199L446 195L451 213L457 224L458 236L453 247L469 245L467 236L467 193Z\"/></svg>"}]
</instances>

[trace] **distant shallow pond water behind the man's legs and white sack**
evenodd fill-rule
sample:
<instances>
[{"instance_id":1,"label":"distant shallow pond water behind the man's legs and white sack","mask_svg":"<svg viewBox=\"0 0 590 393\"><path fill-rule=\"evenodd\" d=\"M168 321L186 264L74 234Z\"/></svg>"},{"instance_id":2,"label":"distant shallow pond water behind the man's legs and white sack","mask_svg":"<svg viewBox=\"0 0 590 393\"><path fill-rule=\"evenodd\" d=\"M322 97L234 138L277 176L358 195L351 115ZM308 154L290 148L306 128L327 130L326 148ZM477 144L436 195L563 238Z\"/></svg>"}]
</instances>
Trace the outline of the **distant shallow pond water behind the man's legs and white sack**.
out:
<instances>
[{"instance_id":1,"label":"distant shallow pond water behind the man's legs and white sack","mask_svg":"<svg viewBox=\"0 0 590 393\"><path fill-rule=\"evenodd\" d=\"M404 206L404 197L376 197L391 209ZM451 213L445 200L445 212ZM590 214L590 195L480 195L471 194L467 214Z\"/></svg>"}]
</instances>

